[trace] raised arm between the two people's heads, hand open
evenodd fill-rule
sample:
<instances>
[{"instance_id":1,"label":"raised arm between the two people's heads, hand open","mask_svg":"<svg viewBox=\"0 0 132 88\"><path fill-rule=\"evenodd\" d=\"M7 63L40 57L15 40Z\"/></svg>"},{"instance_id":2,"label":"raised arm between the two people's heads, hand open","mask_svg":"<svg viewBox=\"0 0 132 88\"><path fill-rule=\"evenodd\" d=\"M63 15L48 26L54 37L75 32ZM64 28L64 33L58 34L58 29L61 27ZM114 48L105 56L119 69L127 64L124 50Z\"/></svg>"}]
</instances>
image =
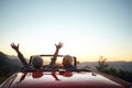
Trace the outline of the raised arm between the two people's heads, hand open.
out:
<instances>
[{"instance_id":1,"label":"raised arm between the two people's heads, hand open","mask_svg":"<svg viewBox=\"0 0 132 88\"><path fill-rule=\"evenodd\" d=\"M57 59L57 55L58 55L58 52L59 52L59 48L63 47L63 43L59 42L58 44L55 44L56 46L56 51L54 53L54 56L52 58L52 62L50 63L48 67L52 68Z\"/></svg>"}]
</instances>

